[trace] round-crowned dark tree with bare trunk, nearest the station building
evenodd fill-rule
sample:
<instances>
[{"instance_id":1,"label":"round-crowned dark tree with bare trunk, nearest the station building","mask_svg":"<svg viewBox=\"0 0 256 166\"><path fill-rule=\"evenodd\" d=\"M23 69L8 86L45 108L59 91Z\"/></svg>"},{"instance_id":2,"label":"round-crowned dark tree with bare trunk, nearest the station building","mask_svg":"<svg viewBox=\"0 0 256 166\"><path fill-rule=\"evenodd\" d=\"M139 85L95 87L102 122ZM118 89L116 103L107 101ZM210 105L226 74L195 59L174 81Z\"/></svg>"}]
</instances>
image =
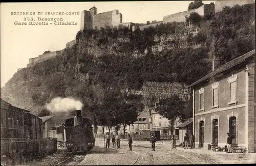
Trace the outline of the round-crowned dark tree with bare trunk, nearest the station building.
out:
<instances>
[{"instance_id":1,"label":"round-crowned dark tree with bare trunk, nearest the station building","mask_svg":"<svg viewBox=\"0 0 256 166\"><path fill-rule=\"evenodd\" d=\"M185 109L185 101L176 94L170 96L169 98L160 99L157 109L159 114L170 120L171 134L173 134L173 124L177 118L182 119L182 113Z\"/></svg>"}]
</instances>

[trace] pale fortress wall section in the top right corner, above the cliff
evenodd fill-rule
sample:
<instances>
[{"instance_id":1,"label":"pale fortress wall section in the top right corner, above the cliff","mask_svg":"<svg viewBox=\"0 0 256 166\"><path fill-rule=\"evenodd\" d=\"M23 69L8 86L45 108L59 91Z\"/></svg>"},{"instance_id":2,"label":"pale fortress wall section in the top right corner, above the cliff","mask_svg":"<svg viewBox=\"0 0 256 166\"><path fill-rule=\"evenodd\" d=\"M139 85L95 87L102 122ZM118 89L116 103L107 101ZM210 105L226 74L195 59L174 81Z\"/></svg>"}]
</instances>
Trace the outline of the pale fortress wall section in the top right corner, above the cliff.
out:
<instances>
[{"instance_id":1,"label":"pale fortress wall section in the top right corner, above the cliff","mask_svg":"<svg viewBox=\"0 0 256 166\"><path fill-rule=\"evenodd\" d=\"M222 11L225 6L233 7L234 5L245 5L245 4L253 4L255 1L253 0L234 0L234 1L216 1L215 2L215 13Z\"/></svg>"}]
</instances>

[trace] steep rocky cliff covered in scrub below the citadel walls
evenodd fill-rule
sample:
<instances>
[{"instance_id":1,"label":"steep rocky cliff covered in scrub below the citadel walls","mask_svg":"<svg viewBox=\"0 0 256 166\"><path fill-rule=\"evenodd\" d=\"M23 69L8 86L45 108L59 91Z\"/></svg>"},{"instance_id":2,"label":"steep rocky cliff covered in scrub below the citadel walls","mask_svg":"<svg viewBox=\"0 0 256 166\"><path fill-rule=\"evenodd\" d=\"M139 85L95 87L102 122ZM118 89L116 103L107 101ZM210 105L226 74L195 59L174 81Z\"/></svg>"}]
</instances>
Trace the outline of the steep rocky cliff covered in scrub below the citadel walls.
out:
<instances>
[{"instance_id":1,"label":"steep rocky cliff covered in scrub below the citadel walls","mask_svg":"<svg viewBox=\"0 0 256 166\"><path fill-rule=\"evenodd\" d=\"M224 64L254 48L254 7L227 8L197 25L174 22L135 32L126 27L78 32L77 44L60 56L17 71L1 96L12 95L14 106L37 114L55 97L87 104L106 89L146 91L144 82L175 82L184 91L210 72L214 54ZM161 84L154 91L158 88Z\"/></svg>"}]
</instances>

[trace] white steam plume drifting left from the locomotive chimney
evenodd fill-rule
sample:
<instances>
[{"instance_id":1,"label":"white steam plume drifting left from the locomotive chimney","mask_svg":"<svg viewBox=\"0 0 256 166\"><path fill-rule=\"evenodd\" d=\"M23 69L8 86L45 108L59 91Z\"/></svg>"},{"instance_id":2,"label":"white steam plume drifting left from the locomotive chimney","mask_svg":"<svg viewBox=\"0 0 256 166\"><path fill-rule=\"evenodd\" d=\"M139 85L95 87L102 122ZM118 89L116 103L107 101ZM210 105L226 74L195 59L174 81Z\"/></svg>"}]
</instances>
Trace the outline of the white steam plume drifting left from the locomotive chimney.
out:
<instances>
[{"instance_id":1,"label":"white steam plume drifting left from the locomotive chimney","mask_svg":"<svg viewBox=\"0 0 256 166\"><path fill-rule=\"evenodd\" d=\"M68 112L69 110L82 109L82 103L73 98L56 97L50 103L46 104L51 112Z\"/></svg>"}]
</instances>

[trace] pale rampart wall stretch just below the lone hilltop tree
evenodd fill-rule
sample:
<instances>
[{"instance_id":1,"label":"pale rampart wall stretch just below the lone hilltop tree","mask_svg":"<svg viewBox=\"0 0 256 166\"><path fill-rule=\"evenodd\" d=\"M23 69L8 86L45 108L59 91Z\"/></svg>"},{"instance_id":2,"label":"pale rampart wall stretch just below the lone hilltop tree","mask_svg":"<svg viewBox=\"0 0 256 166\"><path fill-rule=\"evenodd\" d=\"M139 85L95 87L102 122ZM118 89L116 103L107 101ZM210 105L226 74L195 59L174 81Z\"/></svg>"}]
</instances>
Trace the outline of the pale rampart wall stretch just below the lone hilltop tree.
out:
<instances>
[{"instance_id":1,"label":"pale rampart wall stretch just below the lone hilltop tree","mask_svg":"<svg viewBox=\"0 0 256 166\"><path fill-rule=\"evenodd\" d=\"M193 9L193 10L187 10L184 12L180 12L180 13L175 13L175 14L171 14L171 15L167 15L163 17L163 22L184 22L186 21L185 16L189 16L190 13L196 12L198 13L200 16L204 15L204 5L202 5L201 7L197 8L197 9Z\"/></svg>"}]
</instances>

